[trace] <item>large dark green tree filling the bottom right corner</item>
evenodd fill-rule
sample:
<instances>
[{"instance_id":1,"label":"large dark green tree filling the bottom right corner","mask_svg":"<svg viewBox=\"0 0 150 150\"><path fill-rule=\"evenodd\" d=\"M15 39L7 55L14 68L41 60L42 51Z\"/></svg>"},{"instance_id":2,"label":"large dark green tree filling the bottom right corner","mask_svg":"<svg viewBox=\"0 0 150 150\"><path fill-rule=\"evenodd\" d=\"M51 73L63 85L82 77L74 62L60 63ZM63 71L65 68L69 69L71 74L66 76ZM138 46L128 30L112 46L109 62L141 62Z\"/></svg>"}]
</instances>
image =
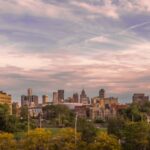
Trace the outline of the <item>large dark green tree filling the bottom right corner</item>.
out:
<instances>
[{"instance_id":1,"label":"large dark green tree filling the bottom right corner","mask_svg":"<svg viewBox=\"0 0 150 150\"><path fill-rule=\"evenodd\" d=\"M132 122L124 129L123 147L125 150L150 149L150 125L146 122Z\"/></svg>"}]
</instances>

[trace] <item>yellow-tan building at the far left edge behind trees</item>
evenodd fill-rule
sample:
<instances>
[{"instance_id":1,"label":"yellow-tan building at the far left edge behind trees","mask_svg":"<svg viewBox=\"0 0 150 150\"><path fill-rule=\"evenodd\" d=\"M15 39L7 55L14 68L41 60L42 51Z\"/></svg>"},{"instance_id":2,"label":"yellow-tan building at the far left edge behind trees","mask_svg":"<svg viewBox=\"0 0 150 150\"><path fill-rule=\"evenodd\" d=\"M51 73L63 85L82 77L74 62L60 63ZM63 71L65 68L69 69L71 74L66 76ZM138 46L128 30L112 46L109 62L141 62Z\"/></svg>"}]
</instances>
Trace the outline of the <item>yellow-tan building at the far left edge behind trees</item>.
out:
<instances>
[{"instance_id":1,"label":"yellow-tan building at the far left edge behind trees","mask_svg":"<svg viewBox=\"0 0 150 150\"><path fill-rule=\"evenodd\" d=\"M10 113L12 113L12 98L11 95L0 91L0 104L7 104L10 107Z\"/></svg>"}]
</instances>

